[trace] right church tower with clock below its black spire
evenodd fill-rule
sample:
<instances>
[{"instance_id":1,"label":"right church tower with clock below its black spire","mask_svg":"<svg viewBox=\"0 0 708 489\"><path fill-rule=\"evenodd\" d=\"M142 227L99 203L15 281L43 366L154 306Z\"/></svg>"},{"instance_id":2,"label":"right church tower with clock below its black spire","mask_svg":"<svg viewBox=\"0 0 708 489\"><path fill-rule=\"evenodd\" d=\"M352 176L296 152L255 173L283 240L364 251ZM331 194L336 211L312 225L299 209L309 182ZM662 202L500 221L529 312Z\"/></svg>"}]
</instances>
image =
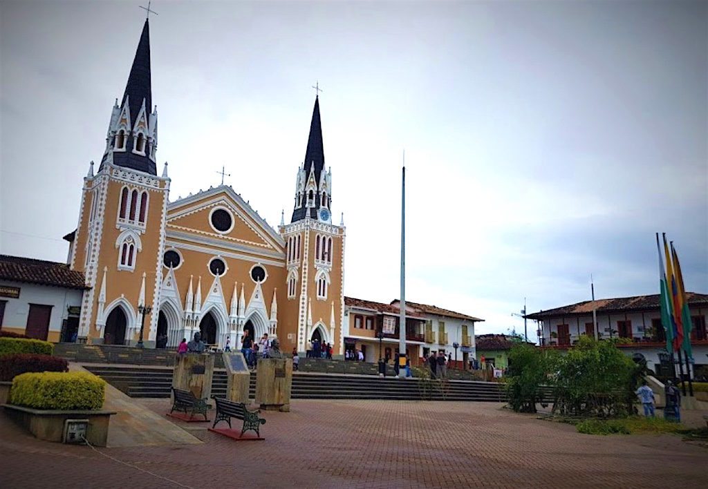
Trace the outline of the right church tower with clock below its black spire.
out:
<instances>
[{"instance_id":1,"label":"right church tower with clock below its black spire","mask_svg":"<svg viewBox=\"0 0 708 489\"><path fill-rule=\"evenodd\" d=\"M290 224L282 222L286 243L287 282L284 317L295 330L297 350L304 352L318 338L343 354L341 323L344 306L345 228L332 224L332 173L324 166L324 144L315 98L307 150L297 171L295 205Z\"/></svg>"}]
</instances>

